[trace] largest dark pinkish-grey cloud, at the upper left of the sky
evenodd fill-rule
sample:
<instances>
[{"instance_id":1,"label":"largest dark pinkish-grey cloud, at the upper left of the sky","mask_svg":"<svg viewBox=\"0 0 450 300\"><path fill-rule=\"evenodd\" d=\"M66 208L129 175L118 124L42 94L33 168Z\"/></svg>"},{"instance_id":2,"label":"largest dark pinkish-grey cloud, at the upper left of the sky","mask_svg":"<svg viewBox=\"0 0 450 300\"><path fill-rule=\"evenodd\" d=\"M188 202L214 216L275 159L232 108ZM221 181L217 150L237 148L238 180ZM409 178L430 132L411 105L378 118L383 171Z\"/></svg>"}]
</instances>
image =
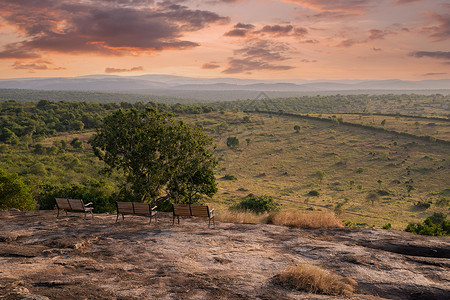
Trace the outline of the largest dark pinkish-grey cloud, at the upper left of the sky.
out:
<instances>
[{"instance_id":1,"label":"largest dark pinkish-grey cloud, at the upper left of the sky","mask_svg":"<svg viewBox=\"0 0 450 300\"><path fill-rule=\"evenodd\" d=\"M26 36L0 50L0 58L17 59L38 57L43 51L125 55L183 50L199 46L183 40L184 33L229 21L173 1L150 0L7 1L0 13L9 26Z\"/></svg>"}]
</instances>

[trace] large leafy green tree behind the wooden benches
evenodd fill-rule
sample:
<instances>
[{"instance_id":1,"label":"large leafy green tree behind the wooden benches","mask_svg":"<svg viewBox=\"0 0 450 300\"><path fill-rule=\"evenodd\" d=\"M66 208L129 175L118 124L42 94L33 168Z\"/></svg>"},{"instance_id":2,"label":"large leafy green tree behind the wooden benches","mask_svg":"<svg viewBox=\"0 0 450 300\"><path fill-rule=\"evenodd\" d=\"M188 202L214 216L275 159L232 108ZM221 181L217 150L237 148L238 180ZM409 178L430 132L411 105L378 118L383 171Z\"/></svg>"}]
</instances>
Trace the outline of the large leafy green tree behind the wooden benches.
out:
<instances>
[{"instance_id":1,"label":"large leafy green tree behind the wooden benches","mask_svg":"<svg viewBox=\"0 0 450 300\"><path fill-rule=\"evenodd\" d=\"M108 171L123 171L134 200L193 203L217 192L212 139L155 109L114 112L90 144Z\"/></svg>"}]
</instances>

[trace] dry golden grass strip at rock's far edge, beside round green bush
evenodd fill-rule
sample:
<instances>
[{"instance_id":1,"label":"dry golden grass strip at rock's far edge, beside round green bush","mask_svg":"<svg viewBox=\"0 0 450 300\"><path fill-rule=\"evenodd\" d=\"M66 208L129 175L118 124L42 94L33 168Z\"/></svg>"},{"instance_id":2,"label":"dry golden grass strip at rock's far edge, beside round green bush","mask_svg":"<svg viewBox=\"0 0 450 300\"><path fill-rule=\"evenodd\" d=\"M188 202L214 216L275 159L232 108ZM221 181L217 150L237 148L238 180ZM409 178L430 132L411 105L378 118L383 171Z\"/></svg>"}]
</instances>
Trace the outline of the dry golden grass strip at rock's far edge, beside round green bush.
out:
<instances>
[{"instance_id":1,"label":"dry golden grass strip at rock's far edge, beside round green bush","mask_svg":"<svg viewBox=\"0 0 450 300\"><path fill-rule=\"evenodd\" d=\"M285 210L270 216L270 223L298 228L343 227L334 214Z\"/></svg>"}]
</instances>

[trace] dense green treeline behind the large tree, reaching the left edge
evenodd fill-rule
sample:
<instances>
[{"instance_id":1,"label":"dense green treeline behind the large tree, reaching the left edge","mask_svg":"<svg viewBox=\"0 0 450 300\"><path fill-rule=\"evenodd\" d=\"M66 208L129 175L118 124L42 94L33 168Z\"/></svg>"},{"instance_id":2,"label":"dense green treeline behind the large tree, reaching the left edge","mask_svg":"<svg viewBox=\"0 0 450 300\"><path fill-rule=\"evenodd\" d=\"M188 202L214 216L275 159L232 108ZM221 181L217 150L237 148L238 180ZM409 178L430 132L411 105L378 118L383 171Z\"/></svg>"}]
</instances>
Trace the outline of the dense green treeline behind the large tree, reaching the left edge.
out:
<instances>
[{"instance_id":1,"label":"dense green treeline behind the large tree, reaching the left edge","mask_svg":"<svg viewBox=\"0 0 450 300\"><path fill-rule=\"evenodd\" d=\"M42 136L56 133L93 129L101 120L119 108L143 110L154 107L173 113L202 113L211 107L175 104L172 106L155 102L96 103L96 102L52 102L21 103L14 100L0 102L0 142L18 144L20 140L31 143Z\"/></svg>"}]
</instances>

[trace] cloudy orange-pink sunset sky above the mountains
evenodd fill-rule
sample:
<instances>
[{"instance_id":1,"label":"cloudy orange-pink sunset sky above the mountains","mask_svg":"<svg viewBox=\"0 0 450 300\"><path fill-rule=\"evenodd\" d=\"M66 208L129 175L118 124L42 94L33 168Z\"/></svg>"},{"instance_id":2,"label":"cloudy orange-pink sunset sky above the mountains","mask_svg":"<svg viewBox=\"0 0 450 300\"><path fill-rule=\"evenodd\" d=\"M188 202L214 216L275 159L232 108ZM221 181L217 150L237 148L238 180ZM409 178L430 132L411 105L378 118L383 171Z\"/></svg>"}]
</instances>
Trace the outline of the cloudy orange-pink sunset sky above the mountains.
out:
<instances>
[{"instance_id":1,"label":"cloudy orange-pink sunset sky above the mountains","mask_svg":"<svg viewBox=\"0 0 450 300\"><path fill-rule=\"evenodd\" d=\"M0 78L450 78L449 0L0 0Z\"/></svg>"}]
</instances>

